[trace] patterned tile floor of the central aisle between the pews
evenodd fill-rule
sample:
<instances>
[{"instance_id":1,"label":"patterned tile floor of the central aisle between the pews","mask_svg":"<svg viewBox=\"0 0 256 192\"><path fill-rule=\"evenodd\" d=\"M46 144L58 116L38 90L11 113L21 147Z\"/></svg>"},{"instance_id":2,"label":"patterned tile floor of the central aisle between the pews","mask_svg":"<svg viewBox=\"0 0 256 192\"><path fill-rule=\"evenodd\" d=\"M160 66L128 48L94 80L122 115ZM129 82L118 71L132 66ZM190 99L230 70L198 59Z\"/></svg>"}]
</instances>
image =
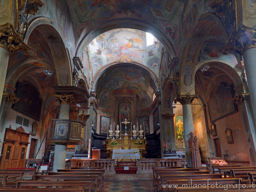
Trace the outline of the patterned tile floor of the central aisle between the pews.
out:
<instances>
[{"instance_id":1,"label":"patterned tile floor of the central aisle between the pews","mask_svg":"<svg viewBox=\"0 0 256 192\"><path fill-rule=\"evenodd\" d=\"M104 192L154 192L152 180L104 180Z\"/></svg>"}]
</instances>

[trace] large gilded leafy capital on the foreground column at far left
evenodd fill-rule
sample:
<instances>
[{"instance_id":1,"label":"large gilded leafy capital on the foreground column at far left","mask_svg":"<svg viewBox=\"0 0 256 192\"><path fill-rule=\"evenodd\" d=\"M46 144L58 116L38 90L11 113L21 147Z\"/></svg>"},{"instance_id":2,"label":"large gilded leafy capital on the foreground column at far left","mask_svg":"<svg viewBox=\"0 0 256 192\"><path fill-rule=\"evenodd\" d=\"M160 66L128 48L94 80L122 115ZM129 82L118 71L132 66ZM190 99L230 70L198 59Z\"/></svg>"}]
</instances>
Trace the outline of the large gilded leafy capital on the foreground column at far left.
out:
<instances>
[{"instance_id":1,"label":"large gilded leafy capital on the foreground column at far left","mask_svg":"<svg viewBox=\"0 0 256 192\"><path fill-rule=\"evenodd\" d=\"M0 25L0 47L7 49L9 52L21 49L25 54L28 54L31 49L24 43L22 37L15 32L10 23Z\"/></svg>"}]
</instances>

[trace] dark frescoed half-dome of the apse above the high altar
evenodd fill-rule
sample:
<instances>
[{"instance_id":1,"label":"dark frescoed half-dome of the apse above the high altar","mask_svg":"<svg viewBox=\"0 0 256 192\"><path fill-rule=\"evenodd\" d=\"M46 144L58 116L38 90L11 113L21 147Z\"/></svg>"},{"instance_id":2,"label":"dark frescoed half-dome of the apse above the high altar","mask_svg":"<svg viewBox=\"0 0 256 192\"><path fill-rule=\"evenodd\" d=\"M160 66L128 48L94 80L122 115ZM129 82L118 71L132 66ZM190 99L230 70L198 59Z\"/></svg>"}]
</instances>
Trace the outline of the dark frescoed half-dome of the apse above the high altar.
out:
<instances>
[{"instance_id":1,"label":"dark frescoed half-dome of the apse above the high altar","mask_svg":"<svg viewBox=\"0 0 256 192\"><path fill-rule=\"evenodd\" d=\"M144 74L144 75L142 75ZM137 67L119 66L111 68L99 78L96 93L101 100L109 95L133 95L152 98L156 85L150 74Z\"/></svg>"}]
</instances>

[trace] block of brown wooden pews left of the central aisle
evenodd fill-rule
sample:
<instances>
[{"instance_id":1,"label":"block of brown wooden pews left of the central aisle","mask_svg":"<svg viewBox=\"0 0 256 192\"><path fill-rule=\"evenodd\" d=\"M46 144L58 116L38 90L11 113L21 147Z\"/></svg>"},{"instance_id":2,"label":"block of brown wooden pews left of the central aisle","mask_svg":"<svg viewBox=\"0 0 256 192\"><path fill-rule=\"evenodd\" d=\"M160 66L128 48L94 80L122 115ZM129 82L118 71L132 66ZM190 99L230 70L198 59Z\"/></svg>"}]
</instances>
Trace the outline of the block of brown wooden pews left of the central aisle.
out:
<instances>
[{"instance_id":1,"label":"block of brown wooden pews left of the central aisle","mask_svg":"<svg viewBox=\"0 0 256 192\"><path fill-rule=\"evenodd\" d=\"M104 170L101 167L59 169L46 175L35 169L0 169L0 192L103 192ZM24 179L30 173L31 179Z\"/></svg>"}]
</instances>

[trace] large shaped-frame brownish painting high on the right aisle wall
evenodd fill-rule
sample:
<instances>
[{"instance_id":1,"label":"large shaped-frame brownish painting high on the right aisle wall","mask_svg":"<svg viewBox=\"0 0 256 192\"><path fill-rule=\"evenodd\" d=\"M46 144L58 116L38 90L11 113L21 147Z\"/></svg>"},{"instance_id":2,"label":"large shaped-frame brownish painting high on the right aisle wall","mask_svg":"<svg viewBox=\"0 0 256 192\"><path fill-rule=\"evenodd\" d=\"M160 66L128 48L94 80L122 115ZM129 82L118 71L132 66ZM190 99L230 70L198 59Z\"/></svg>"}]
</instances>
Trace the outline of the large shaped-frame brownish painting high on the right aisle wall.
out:
<instances>
[{"instance_id":1,"label":"large shaped-frame brownish painting high on the right aisle wall","mask_svg":"<svg viewBox=\"0 0 256 192\"><path fill-rule=\"evenodd\" d=\"M237 106L231 101L232 98L233 92L231 85L226 86L220 83L212 90L210 99L207 102L211 122L215 122L237 112Z\"/></svg>"}]
</instances>

